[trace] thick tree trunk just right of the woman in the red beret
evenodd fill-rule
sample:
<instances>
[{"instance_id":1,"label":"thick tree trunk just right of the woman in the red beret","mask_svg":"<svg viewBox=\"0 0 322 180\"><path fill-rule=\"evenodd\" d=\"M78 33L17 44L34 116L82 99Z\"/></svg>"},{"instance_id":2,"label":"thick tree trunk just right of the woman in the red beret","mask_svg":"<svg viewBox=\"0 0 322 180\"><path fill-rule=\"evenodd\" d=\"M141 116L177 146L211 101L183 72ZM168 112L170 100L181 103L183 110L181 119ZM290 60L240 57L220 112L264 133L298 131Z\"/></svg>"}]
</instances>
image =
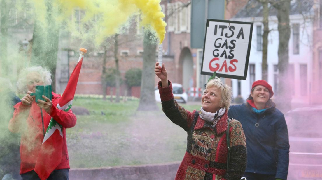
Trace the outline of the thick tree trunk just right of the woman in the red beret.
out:
<instances>
[{"instance_id":1,"label":"thick tree trunk just right of the woman in the red beret","mask_svg":"<svg viewBox=\"0 0 322 180\"><path fill-rule=\"evenodd\" d=\"M278 108L282 112L286 112L290 109L291 93L289 93L290 85L288 82L288 66L289 66L289 9L290 0L279 0L277 6L277 19L278 19L278 31L279 31L279 49L278 49L278 88L276 102Z\"/></svg>"}]
</instances>

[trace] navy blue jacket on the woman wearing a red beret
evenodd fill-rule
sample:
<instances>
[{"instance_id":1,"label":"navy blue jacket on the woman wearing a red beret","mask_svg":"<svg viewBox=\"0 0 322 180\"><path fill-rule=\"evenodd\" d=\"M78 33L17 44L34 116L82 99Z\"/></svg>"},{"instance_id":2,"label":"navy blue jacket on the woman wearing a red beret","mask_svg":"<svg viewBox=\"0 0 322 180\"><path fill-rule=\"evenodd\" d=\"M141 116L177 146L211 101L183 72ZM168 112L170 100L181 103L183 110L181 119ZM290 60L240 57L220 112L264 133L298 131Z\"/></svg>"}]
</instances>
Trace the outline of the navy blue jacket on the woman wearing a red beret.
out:
<instances>
[{"instance_id":1,"label":"navy blue jacket on the woman wearing a red beret","mask_svg":"<svg viewBox=\"0 0 322 180\"><path fill-rule=\"evenodd\" d=\"M256 114L250 105L240 104L230 106L228 117L240 121L245 132L247 142L245 172L275 175L275 178L287 179L289 135L283 113L271 107L261 114Z\"/></svg>"}]
</instances>

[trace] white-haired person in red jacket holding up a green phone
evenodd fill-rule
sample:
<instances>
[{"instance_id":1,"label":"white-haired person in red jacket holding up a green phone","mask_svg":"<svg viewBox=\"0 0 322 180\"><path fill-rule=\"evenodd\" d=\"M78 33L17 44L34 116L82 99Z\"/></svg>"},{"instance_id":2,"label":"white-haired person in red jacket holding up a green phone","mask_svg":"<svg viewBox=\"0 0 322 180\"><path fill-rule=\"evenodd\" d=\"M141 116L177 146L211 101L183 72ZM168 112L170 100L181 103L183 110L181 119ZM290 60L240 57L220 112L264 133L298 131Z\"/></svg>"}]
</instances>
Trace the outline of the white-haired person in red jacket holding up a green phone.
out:
<instances>
[{"instance_id":1,"label":"white-haired person in red jacket holding up a green phone","mask_svg":"<svg viewBox=\"0 0 322 180\"><path fill-rule=\"evenodd\" d=\"M66 128L75 126L76 116L71 110L65 112L56 108L61 97L59 94L52 92L52 101L43 96L46 101L38 100L38 102L35 102L35 97L30 95L35 92L36 86L51 85L51 82L51 73L40 66L26 68L19 75L17 86L19 91L25 93L25 95L21 102L14 106L14 115L9 122L9 130L14 133L21 133L20 175L24 180L40 179L34 168L43 142L44 130L47 129L51 118L63 127L62 160L47 180L68 179L70 166L66 144Z\"/></svg>"}]
</instances>

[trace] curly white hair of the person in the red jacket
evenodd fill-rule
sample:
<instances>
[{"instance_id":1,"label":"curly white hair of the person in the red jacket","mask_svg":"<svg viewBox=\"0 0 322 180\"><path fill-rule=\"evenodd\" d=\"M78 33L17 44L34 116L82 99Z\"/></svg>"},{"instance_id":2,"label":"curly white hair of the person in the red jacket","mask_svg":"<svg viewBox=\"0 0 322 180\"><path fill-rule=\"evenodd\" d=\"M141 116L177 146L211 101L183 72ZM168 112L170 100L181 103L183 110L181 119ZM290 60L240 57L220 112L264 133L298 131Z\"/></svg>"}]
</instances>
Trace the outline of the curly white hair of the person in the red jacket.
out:
<instances>
[{"instance_id":1,"label":"curly white hair of the person in the red jacket","mask_svg":"<svg viewBox=\"0 0 322 180\"><path fill-rule=\"evenodd\" d=\"M49 70L46 68L43 68L41 66L33 66L29 68L25 68L20 71L18 82L17 82L17 88L20 93L27 93L27 80L26 77L30 72L38 72L40 74L40 77L44 83L44 85L51 85L52 84L52 74Z\"/></svg>"}]
</instances>

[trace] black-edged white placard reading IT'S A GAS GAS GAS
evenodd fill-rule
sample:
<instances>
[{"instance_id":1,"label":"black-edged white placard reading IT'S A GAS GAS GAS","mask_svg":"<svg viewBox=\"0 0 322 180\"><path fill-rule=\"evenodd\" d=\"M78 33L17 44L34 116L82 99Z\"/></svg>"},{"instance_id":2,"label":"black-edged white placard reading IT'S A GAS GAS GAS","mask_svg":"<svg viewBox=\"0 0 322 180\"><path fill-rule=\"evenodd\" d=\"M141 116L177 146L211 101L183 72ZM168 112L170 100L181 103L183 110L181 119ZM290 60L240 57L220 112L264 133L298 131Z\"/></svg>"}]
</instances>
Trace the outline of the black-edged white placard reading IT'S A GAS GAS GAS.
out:
<instances>
[{"instance_id":1,"label":"black-edged white placard reading IT'S A GAS GAS GAS","mask_svg":"<svg viewBox=\"0 0 322 180\"><path fill-rule=\"evenodd\" d=\"M246 79L253 23L207 19L201 74Z\"/></svg>"}]
</instances>

